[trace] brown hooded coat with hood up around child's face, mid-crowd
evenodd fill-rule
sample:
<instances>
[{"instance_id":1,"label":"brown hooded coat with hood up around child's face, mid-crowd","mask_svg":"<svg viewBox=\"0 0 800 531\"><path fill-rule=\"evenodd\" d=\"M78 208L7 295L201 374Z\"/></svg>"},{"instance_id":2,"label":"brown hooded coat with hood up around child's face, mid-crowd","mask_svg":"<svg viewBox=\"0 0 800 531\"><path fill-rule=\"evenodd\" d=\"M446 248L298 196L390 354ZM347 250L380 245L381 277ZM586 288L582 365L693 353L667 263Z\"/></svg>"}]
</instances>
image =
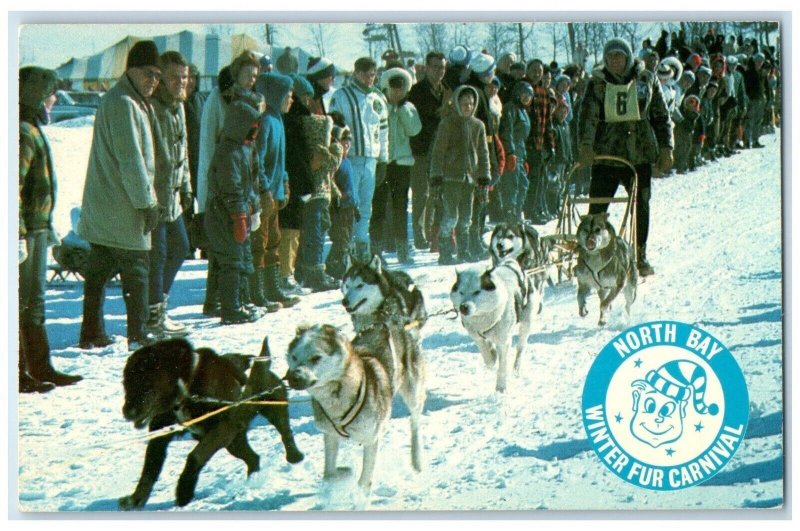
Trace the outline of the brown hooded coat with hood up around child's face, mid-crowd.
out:
<instances>
[{"instance_id":1,"label":"brown hooded coat with hood up around child's face, mid-crowd","mask_svg":"<svg viewBox=\"0 0 800 531\"><path fill-rule=\"evenodd\" d=\"M476 106L470 116L461 114L458 96L469 90L475 96ZM486 128L475 118L478 91L469 85L462 85L453 93L455 112L442 118L436 131L431 151L431 177L441 176L450 182L475 184L489 175L489 147L486 143Z\"/></svg>"}]
</instances>

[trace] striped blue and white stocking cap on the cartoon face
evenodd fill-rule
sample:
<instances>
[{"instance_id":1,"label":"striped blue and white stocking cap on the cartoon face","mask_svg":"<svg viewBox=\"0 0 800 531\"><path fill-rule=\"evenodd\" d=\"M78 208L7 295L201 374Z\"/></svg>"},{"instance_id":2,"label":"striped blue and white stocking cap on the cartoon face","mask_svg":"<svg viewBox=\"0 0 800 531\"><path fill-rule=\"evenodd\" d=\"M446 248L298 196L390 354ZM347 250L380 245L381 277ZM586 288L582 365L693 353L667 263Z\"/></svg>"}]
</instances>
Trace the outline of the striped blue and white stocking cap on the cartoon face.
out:
<instances>
[{"instance_id":1,"label":"striped blue and white stocking cap on the cartoon face","mask_svg":"<svg viewBox=\"0 0 800 531\"><path fill-rule=\"evenodd\" d=\"M719 413L717 404L706 404L706 371L689 360L670 361L655 371L649 371L645 381L659 393L675 401L683 402L692 396L694 410L701 415Z\"/></svg>"}]
</instances>

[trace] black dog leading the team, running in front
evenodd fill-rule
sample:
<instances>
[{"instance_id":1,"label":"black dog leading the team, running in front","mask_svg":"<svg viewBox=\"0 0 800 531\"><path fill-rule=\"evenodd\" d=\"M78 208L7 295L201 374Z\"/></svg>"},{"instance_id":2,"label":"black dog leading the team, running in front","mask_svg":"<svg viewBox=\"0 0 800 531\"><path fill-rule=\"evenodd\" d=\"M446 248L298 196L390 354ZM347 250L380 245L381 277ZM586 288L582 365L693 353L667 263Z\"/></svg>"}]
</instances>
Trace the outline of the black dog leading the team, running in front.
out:
<instances>
[{"instance_id":1,"label":"black dog leading the team, running in front","mask_svg":"<svg viewBox=\"0 0 800 531\"><path fill-rule=\"evenodd\" d=\"M192 500L200 471L222 448L245 462L248 475L259 470L258 454L247 442L247 430L256 415L262 415L278 430L289 463L303 460L289 427L286 387L269 370L271 361L266 338L261 355L256 358L241 354L220 356L207 348L195 350L185 339L160 341L140 348L128 358L123 372L122 414L136 428L148 426L150 431L158 430L247 397L283 402L282 405L236 405L192 424L189 431L198 443L178 479L178 505L184 506ZM164 465L167 446L177 435L177 432L166 433L147 443L139 483L133 494L120 498L120 508L144 507Z\"/></svg>"}]
</instances>

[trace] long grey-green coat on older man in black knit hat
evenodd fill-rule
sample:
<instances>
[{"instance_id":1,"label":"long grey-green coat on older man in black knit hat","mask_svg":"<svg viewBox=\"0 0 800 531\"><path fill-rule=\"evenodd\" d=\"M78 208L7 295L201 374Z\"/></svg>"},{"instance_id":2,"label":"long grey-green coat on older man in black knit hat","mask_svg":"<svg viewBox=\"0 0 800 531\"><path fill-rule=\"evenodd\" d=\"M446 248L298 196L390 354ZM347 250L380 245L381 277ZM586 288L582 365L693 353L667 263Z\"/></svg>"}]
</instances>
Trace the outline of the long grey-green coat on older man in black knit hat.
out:
<instances>
[{"instance_id":1,"label":"long grey-green coat on older man in black knit hat","mask_svg":"<svg viewBox=\"0 0 800 531\"><path fill-rule=\"evenodd\" d=\"M143 209L155 206L153 108L123 75L97 109L78 234L90 243L150 250Z\"/></svg>"}]
</instances>

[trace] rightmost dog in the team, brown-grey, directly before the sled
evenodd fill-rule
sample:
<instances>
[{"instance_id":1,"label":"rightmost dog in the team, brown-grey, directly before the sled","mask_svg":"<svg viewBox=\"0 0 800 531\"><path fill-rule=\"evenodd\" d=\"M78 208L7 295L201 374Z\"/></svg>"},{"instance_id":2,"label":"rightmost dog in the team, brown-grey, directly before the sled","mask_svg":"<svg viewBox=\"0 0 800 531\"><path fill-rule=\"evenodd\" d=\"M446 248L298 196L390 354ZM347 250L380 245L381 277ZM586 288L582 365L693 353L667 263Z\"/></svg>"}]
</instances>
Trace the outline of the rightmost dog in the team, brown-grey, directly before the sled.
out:
<instances>
[{"instance_id":1,"label":"rightmost dog in the team, brown-grey, directly before the sled","mask_svg":"<svg viewBox=\"0 0 800 531\"><path fill-rule=\"evenodd\" d=\"M636 259L628 242L617 236L608 213L589 214L578 225L578 313L586 317L586 296L594 288L600 297L600 326L606 324L608 308L620 291L625 295L625 312L630 315L636 300Z\"/></svg>"}]
</instances>

